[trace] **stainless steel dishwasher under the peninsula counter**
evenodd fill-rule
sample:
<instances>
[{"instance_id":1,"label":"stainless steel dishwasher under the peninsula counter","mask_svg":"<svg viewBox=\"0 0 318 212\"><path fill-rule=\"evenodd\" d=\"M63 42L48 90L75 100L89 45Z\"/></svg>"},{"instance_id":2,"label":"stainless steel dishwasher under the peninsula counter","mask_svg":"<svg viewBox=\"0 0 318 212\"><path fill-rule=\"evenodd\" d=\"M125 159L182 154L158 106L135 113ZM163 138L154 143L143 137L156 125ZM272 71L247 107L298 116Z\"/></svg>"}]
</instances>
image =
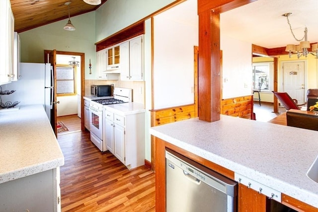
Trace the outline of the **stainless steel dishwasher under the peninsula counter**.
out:
<instances>
[{"instance_id":1,"label":"stainless steel dishwasher under the peninsula counter","mask_svg":"<svg viewBox=\"0 0 318 212\"><path fill-rule=\"evenodd\" d=\"M165 151L166 212L236 212L237 183L170 149Z\"/></svg>"}]
</instances>

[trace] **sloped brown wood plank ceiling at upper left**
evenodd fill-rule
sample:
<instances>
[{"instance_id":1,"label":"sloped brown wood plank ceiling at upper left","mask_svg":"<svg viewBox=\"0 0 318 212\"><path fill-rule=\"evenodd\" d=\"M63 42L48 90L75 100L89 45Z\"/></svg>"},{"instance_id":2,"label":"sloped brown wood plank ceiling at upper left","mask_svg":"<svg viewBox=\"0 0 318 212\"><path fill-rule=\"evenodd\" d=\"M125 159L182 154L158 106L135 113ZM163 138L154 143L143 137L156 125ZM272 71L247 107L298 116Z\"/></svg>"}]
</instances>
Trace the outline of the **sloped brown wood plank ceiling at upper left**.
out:
<instances>
[{"instance_id":1,"label":"sloped brown wood plank ceiling at upper left","mask_svg":"<svg viewBox=\"0 0 318 212\"><path fill-rule=\"evenodd\" d=\"M14 31L20 33L69 17L68 6L71 1L70 16L80 15L96 10L99 5L90 5L83 0L10 0L14 15ZM72 18L71 18L72 20Z\"/></svg>"}]
</instances>

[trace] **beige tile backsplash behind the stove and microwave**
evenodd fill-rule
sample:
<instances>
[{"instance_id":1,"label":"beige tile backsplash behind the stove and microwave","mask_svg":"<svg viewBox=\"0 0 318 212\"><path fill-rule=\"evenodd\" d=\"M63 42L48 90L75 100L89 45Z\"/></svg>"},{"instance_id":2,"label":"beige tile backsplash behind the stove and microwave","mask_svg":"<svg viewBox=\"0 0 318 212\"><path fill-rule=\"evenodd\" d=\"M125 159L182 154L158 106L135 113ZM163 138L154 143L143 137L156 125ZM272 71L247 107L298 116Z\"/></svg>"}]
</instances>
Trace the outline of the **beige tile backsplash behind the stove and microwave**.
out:
<instances>
[{"instance_id":1,"label":"beige tile backsplash behind the stove and microwave","mask_svg":"<svg viewBox=\"0 0 318 212\"><path fill-rule=\"evenodd\" d=\"M133 102L145 104L145 81L85 79L85 96L90 95L90 85L93 84L114 84L114 87L131 88L133 90Z\"/></svg>"}]
</instances>

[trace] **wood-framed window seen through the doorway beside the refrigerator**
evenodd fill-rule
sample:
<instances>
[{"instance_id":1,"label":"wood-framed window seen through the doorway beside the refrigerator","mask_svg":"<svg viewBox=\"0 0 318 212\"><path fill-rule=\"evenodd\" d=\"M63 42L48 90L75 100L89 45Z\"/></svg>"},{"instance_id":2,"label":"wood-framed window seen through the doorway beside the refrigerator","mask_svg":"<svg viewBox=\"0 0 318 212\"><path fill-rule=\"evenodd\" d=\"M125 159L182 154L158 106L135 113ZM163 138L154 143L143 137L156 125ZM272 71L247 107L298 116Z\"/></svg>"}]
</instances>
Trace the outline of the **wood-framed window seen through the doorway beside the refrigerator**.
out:
<instances>
[{"instance_id":1,"label":"wood-framed window seen through the doorway beside the refrigerator","mask_svg":"<svg viewBox=\"0 0 318 212\"><path fill-rule=\"evenodd\" d=\"M58 96L76 95L76 67L57 66L56 90Z\"/></svg>"}]
</instances>

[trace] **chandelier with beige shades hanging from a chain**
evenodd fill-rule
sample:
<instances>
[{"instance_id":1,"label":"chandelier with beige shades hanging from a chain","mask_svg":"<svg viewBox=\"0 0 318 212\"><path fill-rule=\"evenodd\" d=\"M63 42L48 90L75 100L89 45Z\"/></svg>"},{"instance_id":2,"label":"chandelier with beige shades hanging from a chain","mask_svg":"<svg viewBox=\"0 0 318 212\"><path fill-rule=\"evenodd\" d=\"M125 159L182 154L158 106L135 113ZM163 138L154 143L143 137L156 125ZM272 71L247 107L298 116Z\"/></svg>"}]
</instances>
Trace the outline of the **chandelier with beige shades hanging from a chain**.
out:
<instances>
[{"instance_id":1,"label":"chandelier with beige shades hanging from a chain","mask_svg":"<svg viewBox=\"0 0 318 212\"><path fill-rule=\"evenodd\" d=\"M307 57L308 54L312 54L312 55L315 55L316 58L318 58L318 49L317 49L317 43L316 44L313 44L312 46L312 51L308 51L308 49L310 49L310 42L307 41L307 32L308 32L308 29L307 27L305 27L305 31L304 31L304 37L302 39L297 39L296 36L294 35L294 32L293 32L293 29L292 29L292 25L290 24L289 22L289 18L288 16L290 16L291 12L288 12L288 13L285 13L285 14L282 14L282 16L286 17L287 18L287 23L289 25L289 28L290 28L290 31L293 35L293 37L295 38L296 41L299 41L299 45L294 45L294 44L287 44L286 46L286 52L289 52L289 57L291 58L292 57L292 53L296 53L297 54L297 57L298 59L301 57L301 56L305 56ZM305 41L303 41L305 39Z\"/></svg>"}]
</instances>

